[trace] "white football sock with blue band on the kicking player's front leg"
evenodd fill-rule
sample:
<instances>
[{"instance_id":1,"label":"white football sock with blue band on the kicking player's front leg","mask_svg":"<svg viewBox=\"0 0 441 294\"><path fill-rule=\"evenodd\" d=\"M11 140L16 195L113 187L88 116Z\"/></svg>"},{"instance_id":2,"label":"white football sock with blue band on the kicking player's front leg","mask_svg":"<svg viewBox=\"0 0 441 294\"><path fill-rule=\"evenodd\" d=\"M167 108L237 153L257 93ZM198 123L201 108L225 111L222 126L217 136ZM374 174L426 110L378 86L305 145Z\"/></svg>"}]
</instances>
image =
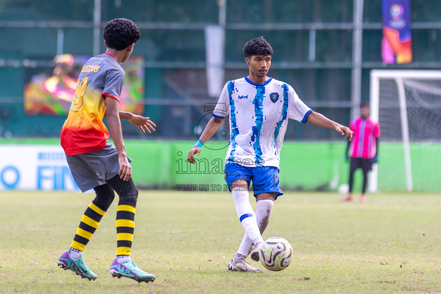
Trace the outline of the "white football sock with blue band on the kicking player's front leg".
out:
<instances>
[{"instance_id":1,"label":"white football sock with blue band on the kicking player's front leg","mask_svg":"<svg viewBox=\"0 0 441 294\"><path fill-rule=\"evenodd\" d=\"M231 192L233 195L234 206L236 207L237 217L239 217L246 234L251 240L253 240L253 243L263 242L262 235L260 235L257 226L254 210L251 207L248 198L249 192L242 187L234 187Z\"/></svg>"}]
</instances>

